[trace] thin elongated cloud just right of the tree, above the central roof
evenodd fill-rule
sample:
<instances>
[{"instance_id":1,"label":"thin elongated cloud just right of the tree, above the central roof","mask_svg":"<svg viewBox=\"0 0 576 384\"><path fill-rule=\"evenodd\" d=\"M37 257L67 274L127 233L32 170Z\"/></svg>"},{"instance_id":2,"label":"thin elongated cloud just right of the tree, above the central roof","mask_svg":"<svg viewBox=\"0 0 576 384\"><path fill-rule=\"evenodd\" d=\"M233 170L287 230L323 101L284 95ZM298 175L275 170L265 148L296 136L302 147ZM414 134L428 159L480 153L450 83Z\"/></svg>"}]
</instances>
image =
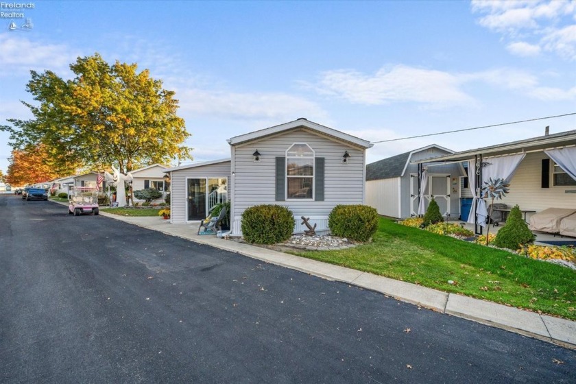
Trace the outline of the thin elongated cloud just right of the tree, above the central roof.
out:
<instances>
[{"instance_id":1,"label":"thin elongated cloud just right of the tree, above the central roof","mask_svg":"<svg viewBox=\"0 0 576 384\"><path fill-rule=\"evenodd\" d=\"M285 121L295 117L324 120L326 112L317 104L285 93L235 93L182 89L177 91L180 109L195 115L221 119Z\"/></svg>"}]
</instances>

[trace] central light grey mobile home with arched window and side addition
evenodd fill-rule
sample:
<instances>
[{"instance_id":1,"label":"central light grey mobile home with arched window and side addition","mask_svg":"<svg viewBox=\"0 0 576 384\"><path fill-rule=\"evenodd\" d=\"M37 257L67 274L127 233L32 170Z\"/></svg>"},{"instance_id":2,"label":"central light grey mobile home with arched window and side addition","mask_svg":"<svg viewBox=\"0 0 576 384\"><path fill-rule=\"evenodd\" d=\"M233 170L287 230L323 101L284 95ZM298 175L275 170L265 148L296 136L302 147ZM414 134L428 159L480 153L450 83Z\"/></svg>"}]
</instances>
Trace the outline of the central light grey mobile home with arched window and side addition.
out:
<instances>
[{"instance_id":1,"label":"central light grey mobile home with arched window and side addition","mask_svg":"<svg viewBox=\"0 0 576 384\"><path fill-rule=\"evenodd\" d=\"M224 183L232 235L237 236L242 213L250 206L287 206L295 232L302 232L301 216L309 217L317 230L327 230L328 214L336 205L364 204L365 150L372 147L368 141L298 119L232 137L228 143L230 159L167 169L173 223L203 219L211 204L210 189L224 191Z\"/></svg>"}]
</instances>

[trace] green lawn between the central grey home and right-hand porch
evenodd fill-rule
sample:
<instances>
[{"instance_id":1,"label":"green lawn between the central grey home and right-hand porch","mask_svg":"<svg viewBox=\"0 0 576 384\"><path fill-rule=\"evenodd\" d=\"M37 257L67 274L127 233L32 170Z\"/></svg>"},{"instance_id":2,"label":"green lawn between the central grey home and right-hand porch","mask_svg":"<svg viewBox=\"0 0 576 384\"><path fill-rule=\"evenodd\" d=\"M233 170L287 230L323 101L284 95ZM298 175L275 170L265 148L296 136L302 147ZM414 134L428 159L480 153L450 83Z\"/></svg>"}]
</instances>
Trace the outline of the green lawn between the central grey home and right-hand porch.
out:
<instances>
[{"instance_id":1,"label":"green lawn between the central grey home and right-hand porch","mask_svg":"<svg viewBox=\"0 0 576 384\"><path fill-rule=\"evenodd\" d=\"M441 291L576 320L576 272L381 219L374 241L291 252ZM453 280L449 284L448 280Z\"/></svg>"}]
</instances>

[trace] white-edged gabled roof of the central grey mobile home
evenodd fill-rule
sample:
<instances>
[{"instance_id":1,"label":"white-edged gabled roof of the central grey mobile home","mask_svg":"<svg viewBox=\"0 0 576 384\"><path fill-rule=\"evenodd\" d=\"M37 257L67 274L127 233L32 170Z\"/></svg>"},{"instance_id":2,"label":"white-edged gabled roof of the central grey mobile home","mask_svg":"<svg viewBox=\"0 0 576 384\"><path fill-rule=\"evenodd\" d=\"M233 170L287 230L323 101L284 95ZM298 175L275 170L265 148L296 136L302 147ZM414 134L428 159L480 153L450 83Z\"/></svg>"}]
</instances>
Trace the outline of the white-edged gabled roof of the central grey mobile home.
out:
<instances>
[{"instance_id":1,"label":"white-edged gabled roof of the central grey mobile home","mask_svg":"<svg viewBox=\"0 0 576 384\"><path fill-rule=\"evenodd\" d=\"M289 123L274 125L274 127L265 128L263 130L258 130L247 134L241 134L240 136L232 137L231 139L228 139L228 144L239 145L242 143L246 143L248 141L262 139L265 136L271 136L273 134L279 134L282 132L287 132L289 130L296 130L299 128L307 128L318 134L322 134L324 136L330 136L339 141L344 141L357 147L363 147L364 149L370 148L372 147L372 145L374 145L370 143L370 141L365 141L363 139L359 139L356 136L352 136L344 132L333 130L332 128L328 128L325 127L324 125L320 125L318 123L314 123L313 121L304 119L304 117L300 117L300 119L290 121Z\"/></svg>"}]
</instances>

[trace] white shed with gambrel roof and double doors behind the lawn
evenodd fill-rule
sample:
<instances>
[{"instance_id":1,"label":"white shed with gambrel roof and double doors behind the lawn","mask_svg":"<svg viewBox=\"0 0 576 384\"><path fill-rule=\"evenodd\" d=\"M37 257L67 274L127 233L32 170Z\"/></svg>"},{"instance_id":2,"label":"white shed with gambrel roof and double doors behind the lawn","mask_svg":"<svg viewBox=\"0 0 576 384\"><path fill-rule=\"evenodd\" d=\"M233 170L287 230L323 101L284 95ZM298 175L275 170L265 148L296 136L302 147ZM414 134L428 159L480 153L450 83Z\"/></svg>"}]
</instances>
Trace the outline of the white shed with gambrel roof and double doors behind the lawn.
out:
<instances>
[{"instance_id":1,"label":"white shed with gambrel roof and double doors behind the lawn","mask_svg":"<svg viewBox=\"0 0 576 384\"><path fill-rule=\"evenodd\" d=\"M411 163L453 153L450 149L433 144L368 164L366 204L376 208L380 215L402 219L416 216L419 191L424 187L424 211L434 197L446 219L457 219L460 215L459 197L468 197L467 191L464 191L464 196L461 195L461 177L466 175L464 168L459 164L428 167L427 180L421 183L418 177L421 170L417 164Z\"/></svg>"}]
</instances>

